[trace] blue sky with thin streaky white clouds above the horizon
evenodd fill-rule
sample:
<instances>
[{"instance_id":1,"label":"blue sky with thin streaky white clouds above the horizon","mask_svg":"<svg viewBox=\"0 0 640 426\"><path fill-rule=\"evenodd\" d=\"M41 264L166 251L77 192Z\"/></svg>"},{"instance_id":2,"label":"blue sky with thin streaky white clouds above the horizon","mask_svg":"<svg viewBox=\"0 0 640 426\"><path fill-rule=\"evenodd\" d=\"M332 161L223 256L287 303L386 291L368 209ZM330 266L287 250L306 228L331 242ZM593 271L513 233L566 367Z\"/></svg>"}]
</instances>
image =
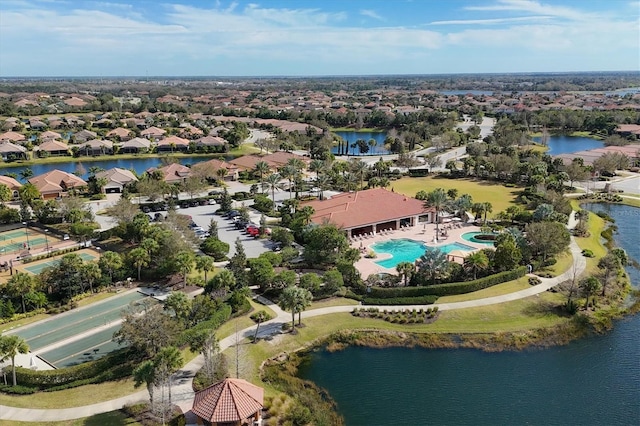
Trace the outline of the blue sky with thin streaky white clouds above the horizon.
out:
<instances>
[{"instance_id":1,"label":"blue sky with thin streaky white clouds above the horizon","mask_svg":"<svg viewBox=\"0 0 640 426\"><path fill-rule=\"evenodd\" d=\"M0 0L0 77L640 70L640 0Z\"/></svg>"}]
</instances>

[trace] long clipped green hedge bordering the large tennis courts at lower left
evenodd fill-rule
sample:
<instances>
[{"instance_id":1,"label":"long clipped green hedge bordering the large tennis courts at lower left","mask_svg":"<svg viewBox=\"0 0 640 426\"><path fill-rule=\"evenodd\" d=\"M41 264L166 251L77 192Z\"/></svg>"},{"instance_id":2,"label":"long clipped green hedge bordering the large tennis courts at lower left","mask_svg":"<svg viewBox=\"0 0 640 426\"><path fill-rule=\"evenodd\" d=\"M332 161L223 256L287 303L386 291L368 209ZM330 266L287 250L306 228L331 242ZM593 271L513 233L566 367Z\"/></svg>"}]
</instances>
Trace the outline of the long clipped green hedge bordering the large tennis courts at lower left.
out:
<instances>
[{"instance_id":1,"label":"long clipped green hedge bordering the large tennis courts at lower left","mask_svg":"<svg viewBox=\"0 0 640 426\"><path fill-rule=\"evenodd\" d=\"M34 371L16 368L16 377L18 383L25 387L66 389L129 376L138 361L138 357L130 349L124 349L95 361L57 370Z\"/></svg>"}]
</instances>

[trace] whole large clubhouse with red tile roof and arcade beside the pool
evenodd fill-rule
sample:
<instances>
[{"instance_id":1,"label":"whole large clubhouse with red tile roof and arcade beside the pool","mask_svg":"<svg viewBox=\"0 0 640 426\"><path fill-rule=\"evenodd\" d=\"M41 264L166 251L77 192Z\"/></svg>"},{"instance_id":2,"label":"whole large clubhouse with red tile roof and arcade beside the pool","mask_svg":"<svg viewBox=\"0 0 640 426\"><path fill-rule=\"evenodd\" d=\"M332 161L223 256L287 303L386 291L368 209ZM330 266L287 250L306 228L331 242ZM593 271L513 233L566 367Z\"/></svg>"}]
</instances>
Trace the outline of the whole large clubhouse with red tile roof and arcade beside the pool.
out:
<instances>
[{"instance_id":1,"label":"whole large clubhouse with red tile roof and arcade beside the pool","mask_svg":"<svg viewBox=\"0 0 640 426\"><path fill-rule=\"evenodd\" d=\"M432 223L435 219L434 208L425 208L420 200L384 188L346 192L302 205L313 208L312 223L332 223L349 237Z\"/></svg>"}]
</instances>

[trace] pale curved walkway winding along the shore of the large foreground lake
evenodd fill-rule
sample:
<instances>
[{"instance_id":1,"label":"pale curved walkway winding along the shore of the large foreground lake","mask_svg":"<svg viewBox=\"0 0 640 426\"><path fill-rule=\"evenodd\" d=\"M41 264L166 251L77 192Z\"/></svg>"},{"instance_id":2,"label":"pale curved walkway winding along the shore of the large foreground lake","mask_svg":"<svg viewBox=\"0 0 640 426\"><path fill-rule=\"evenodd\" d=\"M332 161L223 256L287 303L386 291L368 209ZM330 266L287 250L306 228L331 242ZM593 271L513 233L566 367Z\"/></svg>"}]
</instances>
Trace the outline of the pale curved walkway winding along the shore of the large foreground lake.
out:
<instances>
[{"instance_id":1,"label":"pale curved walkway winding along the shore of the large foreground lake","mask_svg":"<svg viewBox=\"0 0 640 426\"><path fill-rule=\"evenodd\" d=\"M571 215L573 217L573 215ZM570 226L572 227L570 221ZM464 302L452 302L430 305L430 307L437 306L439 310L454 310L454 309L466 309L480 306L495 305L497 303L505 303L513 300L524 299L526 297L534 296L536 294L543 293L550 288L572 279L574 276L579 276L584 272L586 268L586 260L581 254L581 249L571 237L570 244L571 254L573 256L573 265L565 273L558 275L554 278L541 278L542 283L531 286L524 290L516 291L509 294L500 296L487 297L484 299L468 300ZM533 275L532 275L533 276ZM260 326L259 337L269 338L275 334L279 334L282 330L282 325L288 323L291 320L291 314L284 312L275 303L258 296L256 298L259 302L264 303L276 313L276 318L267 321ZM328 315L336 312L351 312L355 306L331 306L326 308L313 309L306 311L302 314L303 318L311 318L320 315ZM398 309L420 309L424 306L376 306L380 309L398 310ZM220 341L220 350L233 346L237 340L253 336L256 326L247 327L238 331L238 335L228 336ZM186 364L181 370L179 370L175 377L176 385L172 388L173 399L178 404L184 413L191 410L193 404L194 392L192 390L192 381L195 374L202 367L203 358L201 355L194 358L188 364ZM2 420L20 420L26 422L45 422L45 421L60 421L60 420L72 420L83 417L89 417L99 413L105 413L121 409L126 404L131 404L139 401L147 400L149 397L146 390L142 390L131 395L124 396L122 398L113 399L110 401L99 402L96 404L85 405L82 407L64 408L64 409L31 409L31 408L16 408L0 405L0 419Z\"/></svg>"}]
</instances>

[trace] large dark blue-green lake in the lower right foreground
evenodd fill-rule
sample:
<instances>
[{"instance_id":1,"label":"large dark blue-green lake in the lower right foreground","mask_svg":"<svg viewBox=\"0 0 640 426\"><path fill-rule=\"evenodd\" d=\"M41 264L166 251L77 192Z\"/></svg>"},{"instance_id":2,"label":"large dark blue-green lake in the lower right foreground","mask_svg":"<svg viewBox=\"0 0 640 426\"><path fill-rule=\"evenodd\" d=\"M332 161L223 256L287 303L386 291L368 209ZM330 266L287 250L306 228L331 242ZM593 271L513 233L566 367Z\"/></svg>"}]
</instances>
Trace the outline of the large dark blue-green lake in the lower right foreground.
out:
<instances>
[{"instance_id":1,"label":"large dark blue-green lake in the lower right foreground","mask_svg":"<svg viewBox=\"0 0 640 426\"><path fill-rule=\"evenodd\" d=\"M607 211L640 260L640 209ZM629 269L637 287L640 275ZM347 425L640 424L640 315L601 336L522 352L349 347L319 350L300 377L329 391Z\"/></svg>"}]
</instances>

